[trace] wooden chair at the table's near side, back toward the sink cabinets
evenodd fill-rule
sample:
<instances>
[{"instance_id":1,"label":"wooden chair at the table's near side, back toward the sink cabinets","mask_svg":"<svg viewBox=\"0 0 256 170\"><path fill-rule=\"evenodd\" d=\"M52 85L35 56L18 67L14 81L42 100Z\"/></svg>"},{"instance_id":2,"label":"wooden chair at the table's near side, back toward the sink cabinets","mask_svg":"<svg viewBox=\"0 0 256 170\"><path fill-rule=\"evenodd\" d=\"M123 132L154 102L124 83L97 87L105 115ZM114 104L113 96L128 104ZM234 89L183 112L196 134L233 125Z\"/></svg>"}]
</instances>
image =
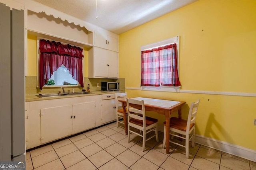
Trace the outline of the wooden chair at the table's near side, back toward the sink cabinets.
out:
<instances>
[{"instance_id":1,"label":"wooden chair at the table's near side, back toward the sink cabinets","mask_svg":"<svg viewBox=\"0 0 256 170\"><path fill-rule=\"evenodd\" d=\"M126 101L128 111L128 143L130 143L130 133L141 136L143 138L142 151L144 152L146 141L156 137L156 141L158 142L158 120L152 117L146 117L144 100L139 101L134 99L126 99ZM133 131L130 129L130 127L134 127L135 129L142 131L142 135L136 131ZM152 137L146 139L146 134L151 131L155 131L155 134Z\"/></svg>"}]
</instances>

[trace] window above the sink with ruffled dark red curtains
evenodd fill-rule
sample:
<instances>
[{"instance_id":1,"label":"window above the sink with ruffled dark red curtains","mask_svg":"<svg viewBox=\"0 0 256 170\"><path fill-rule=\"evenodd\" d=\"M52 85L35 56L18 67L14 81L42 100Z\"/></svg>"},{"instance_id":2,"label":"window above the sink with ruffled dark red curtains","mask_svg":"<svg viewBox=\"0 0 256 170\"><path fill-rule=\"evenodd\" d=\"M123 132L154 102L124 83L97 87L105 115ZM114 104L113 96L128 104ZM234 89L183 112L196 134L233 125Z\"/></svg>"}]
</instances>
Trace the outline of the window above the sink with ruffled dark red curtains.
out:
<instances>
[{"instance_id":1,"label":"window above the sink with ruffled dark red curtains","mask_svg":"<svg viewBox=\"0 0 256 170\"><path fill-rule=\"evenodd\" d=\"M83 49L60 42L40 39L39 85L78 86L83 82Z\"/></svg>"}]
</instances>

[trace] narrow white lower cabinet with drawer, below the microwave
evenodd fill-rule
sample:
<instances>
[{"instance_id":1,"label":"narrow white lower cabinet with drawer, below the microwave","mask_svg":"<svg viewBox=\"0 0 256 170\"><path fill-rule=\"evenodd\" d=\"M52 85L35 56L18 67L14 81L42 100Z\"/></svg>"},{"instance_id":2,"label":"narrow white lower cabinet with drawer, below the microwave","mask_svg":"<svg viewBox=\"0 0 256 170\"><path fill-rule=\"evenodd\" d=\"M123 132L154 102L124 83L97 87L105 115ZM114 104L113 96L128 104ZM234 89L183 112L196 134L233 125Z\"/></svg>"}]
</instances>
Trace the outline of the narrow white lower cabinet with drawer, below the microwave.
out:
<instances>
[{"instance_id":1,"label":"narrow white lower cabinet with drawer, below the microwave","mask_svg":"<svg viewBox=\"0 0 256 170\"><path fill-rule=\"evenodd\" d=\"M116 119L115 94L101 95L102 124Z\"/></svg>"}]
</instances>

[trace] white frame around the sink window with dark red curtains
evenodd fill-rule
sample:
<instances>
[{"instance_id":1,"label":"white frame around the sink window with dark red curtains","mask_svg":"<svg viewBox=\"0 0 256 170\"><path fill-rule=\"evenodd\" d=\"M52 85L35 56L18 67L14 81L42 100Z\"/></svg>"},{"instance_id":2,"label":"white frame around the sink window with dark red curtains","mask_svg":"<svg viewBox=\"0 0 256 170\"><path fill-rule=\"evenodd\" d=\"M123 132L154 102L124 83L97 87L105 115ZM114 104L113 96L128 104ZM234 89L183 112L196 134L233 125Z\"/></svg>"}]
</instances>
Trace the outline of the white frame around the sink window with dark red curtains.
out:
<instances>
[{"instance_id":1,"label":"white frame around the sink window with dark red curtains","mask_svg":"<svg viewBox=\"0 0 256 170\"><path fill-rule=\"evenodd\" d=\"M39 88L39 57L40 57L40 51L39 51L39 43L40 43L40 39L45 39L45 40L49 40L49 41L56 41L56 40L54 40L54 39L47 39L47 38L44 38L44 37L37 37L37 60L36 60L36 63L37 63L37 68L36 68L36 75L37 75L37 88ZM72 43L63 43L63 42L61 42L61 41L58 41L58 42L60 42L61 44L64 44L64 45L67 45L67 44L69 44L69 45L72 45ZM74 46L74 45L72 45L72 46ZM80 46L77 46L76 45L76 47L80 47ZM84 55L84 47L80 47L81 49L83 49L83 55ZM82 72L83 72L83 75L84 75L84 58L82 58L82 66L83 66L83 68L82 68ZM61 86L43 86L42 88L60 88L60 87L80 87L81 85L80 85L80 83L79 82L77 82L77 85L61 85Z\"/></svg>"}]
</instances>

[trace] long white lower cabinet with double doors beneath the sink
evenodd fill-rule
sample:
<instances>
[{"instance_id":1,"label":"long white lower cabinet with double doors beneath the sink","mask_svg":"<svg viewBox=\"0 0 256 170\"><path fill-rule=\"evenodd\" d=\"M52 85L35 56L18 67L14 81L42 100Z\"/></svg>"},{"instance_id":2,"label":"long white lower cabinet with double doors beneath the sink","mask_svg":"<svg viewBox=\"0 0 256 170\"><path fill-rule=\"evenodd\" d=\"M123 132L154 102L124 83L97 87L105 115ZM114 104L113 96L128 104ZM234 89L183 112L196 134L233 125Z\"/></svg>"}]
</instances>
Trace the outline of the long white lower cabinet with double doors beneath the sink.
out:
<instances>
[{"instance_id":1,"label":"long white lower cabinet with double doors beneath the sink","mask_svg":"<svg viewBox=\"0 0 256 170\"><path fill-rule=\"evenodd\" d=\"M26 102L26 149L100 124L100 102L100 95Z\"/></svg>"}]
</instances>

